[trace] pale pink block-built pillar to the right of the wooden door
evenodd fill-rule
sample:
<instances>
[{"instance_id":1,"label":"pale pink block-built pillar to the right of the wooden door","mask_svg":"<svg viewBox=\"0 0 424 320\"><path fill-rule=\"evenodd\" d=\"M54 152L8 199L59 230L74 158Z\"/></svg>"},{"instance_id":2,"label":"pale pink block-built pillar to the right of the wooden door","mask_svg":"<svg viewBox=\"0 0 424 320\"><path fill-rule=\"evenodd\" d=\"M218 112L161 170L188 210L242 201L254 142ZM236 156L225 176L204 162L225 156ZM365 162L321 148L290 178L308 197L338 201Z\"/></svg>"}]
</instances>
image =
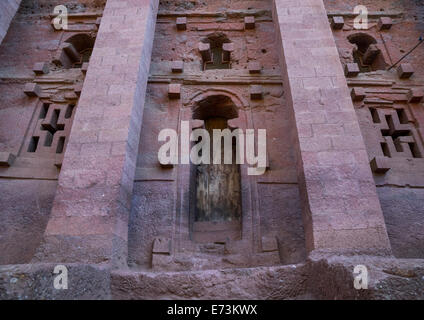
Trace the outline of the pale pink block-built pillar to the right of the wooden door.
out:
<instances>
[{"instance_id":1,"label":"pale pink block-built pillar to the right of the wooden door","mask_svg":"<svg viewBox=\"0 0 424 320\"><path fill-rule=\"evenodd\" d=\"M308 251L389 254L358 119L322 0L275 0Z\"/></svg>"}]
</instances>

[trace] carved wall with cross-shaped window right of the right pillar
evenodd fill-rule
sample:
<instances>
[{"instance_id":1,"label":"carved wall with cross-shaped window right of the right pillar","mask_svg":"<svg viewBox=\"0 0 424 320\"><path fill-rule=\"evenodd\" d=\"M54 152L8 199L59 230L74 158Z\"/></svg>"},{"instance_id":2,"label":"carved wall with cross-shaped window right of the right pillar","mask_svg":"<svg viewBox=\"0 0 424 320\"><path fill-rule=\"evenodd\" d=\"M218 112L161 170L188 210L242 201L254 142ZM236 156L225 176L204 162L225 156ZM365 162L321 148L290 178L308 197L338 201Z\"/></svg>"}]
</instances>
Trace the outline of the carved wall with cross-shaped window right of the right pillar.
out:
<instances>
[{"instance_id":1,"label":"carved wall with cross-shaped window right of the right pillar","mask_svg":"<svg viewBox=\"0 0 424 320\"><path fill-rule=\"evenodd\" d=\"M419 43L424 10L413 1L326 2L341 61L354 63L352 38L370 39L377 69L348 75L348 85L374 173L393 253L399 258L424 257L424 68L423 45L390 68ZM364 4L368 28L355 30L349 10ZM384 10L380 10L383 7ZM382 21L386 27L382 27ZM371 50L371 49L369 49ZM361 69L361 68L359 68Z\"/></svg>"}]
</instances>

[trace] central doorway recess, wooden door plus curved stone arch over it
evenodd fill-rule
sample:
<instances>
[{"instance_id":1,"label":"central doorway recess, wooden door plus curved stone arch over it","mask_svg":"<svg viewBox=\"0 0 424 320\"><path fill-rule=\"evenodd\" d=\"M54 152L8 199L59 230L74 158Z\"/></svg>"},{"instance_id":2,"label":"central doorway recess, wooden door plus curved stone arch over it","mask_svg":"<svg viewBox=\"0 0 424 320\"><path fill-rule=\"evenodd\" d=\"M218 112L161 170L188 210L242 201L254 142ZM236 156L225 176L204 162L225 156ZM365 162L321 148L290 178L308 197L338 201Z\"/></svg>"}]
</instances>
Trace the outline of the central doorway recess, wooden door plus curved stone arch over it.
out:
<instances>
[{"instance_id":1,"label":"central doorway recess, wooden door plus curved stone arch over it","mask_svg":"<svg viewBox=\"0 0 424 320\"><path fill-rule=\"evenodd\" d=\"M211 136L211 146L213 129L244 130L248 127L247 102L225 88L199 91L189 99L187 105L191 129L206 129ZM250 219L246 195L242 194L243 185L245 190L248 189L247 170L245 164L240 165L235 161L236 138L232 142L233 164L190 166L189 237L196 243L241 240L243 224ZM193 142L192 146L196 143ZM223 153L221 159L224 159Z\"/></svg>"}]
</instances>

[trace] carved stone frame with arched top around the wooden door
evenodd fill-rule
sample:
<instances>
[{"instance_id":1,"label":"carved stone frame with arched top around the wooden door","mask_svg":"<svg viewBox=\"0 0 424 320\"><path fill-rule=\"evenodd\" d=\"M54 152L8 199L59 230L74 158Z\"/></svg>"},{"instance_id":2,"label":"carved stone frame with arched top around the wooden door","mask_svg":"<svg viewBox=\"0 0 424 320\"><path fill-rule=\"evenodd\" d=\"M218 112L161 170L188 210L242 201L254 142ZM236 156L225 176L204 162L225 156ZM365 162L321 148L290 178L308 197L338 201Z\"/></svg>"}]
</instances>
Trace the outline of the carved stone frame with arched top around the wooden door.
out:
<instances>
[{"instance_id":1,"label":"carved stone frame with arched top around the wooden door","mask_svg":"<svg viewBox=\"0 0 424 320\"><path fill-rule=\"evenodd\" d=\"M245 95L248 96L246 87ZM198 90L195 94L188 97L186 101L182 101L183 106L180 109L180 121L190 121L190 132L198 126L199 120L193 119L193 111L199 102L212 96L225 96L231 99L237 108L238 118L229 120L231 127L238 127L245 131L248 128L255 128L251 115L249 101L241 94L222 87ZM181 122L180 122L181 123ZM181 127L178 127L178 133ZM254 202L254 193L257 193L256 177L248 176L248 165L240 165L241 178L241 240L243 247L249 247L251 253L260 250L260 223L258 204ZM194 198L193 190L185 192L187 188L193 185L191 180L193 165L180 165L177 168L177 210L176 210L176 228L174 229L174 252L180 251L182 248L194 249L195 243L191 240L191 229L194 220Z\"/></svg>"}]
</instances>

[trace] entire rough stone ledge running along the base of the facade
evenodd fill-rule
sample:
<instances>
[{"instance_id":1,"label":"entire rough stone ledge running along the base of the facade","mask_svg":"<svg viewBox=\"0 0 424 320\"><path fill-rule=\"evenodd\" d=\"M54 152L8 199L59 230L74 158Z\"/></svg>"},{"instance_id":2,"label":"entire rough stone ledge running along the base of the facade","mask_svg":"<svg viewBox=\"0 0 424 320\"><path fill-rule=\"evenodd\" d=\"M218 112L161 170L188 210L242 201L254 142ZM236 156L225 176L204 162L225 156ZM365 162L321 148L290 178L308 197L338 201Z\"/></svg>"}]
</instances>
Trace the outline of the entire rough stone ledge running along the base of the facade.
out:
<instances>
[{"instance_id":1,"label":"entire rough stone ledge running along the base of the facade","mask_svg":"<svg viewBox=\"0 0 424 320\"><path fill-rule=\"evenodd\" d=\"M423 259L314 251L296 265L183 272L66 264L68 290L53 288L56 265L0 266L0 299L424 299ZM353 288L357 265L367 267L367 290Z\"/></svg>"}]
</instances>

